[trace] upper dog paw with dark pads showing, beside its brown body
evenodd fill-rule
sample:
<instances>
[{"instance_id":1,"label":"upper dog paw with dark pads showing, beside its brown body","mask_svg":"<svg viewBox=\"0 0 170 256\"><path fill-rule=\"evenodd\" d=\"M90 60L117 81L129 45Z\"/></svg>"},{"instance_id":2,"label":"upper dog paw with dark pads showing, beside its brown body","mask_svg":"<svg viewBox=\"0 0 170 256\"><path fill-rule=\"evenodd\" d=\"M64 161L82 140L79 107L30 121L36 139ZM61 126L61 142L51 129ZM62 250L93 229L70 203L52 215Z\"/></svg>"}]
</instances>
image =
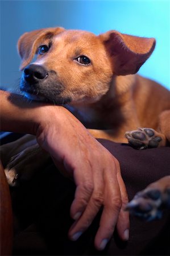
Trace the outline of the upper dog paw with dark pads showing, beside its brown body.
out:
<instances>
[{"instance_id":1,"label":"upper dog paw with dark pads showing, beside its brown body","mask_svg":"<svg viewBox=\"0 0 170 256\"><path fill-rule=\"evenodd\" d=\"M151 128L138 128L138 130L127 131L125 137L132 147L139 150L165 146L165 136Z\"/></svg>"}]
</instances>

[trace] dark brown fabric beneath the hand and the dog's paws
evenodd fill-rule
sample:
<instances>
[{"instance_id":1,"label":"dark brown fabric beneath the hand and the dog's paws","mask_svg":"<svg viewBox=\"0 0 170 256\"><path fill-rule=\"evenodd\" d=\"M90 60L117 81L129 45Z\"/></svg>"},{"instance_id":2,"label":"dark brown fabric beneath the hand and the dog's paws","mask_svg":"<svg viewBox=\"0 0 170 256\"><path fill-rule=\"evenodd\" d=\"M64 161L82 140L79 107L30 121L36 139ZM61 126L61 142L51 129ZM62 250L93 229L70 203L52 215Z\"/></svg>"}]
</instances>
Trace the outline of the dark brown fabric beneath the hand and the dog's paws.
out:
<instances>
[{"instance_id":1,"label":"dark brown fabric beneath the hand and the dog's paws","mask_svg":"<svg viewBox=\"0 0 170 256\"><path fill-rule=\"evenodd\" d=\"M170 147L134 150L127 144L99 139L121 164L129 199L149 183L169 175ZM69 208L75 186L53 163L34 179L11 190L14 211L14 255L169 255L169 212L159 221L142 222L131 217L130 240L121 242L114 233L104 251L94 249L99 212L77 242L68 240L72 224Z\"/></svg>"}]
</instances>

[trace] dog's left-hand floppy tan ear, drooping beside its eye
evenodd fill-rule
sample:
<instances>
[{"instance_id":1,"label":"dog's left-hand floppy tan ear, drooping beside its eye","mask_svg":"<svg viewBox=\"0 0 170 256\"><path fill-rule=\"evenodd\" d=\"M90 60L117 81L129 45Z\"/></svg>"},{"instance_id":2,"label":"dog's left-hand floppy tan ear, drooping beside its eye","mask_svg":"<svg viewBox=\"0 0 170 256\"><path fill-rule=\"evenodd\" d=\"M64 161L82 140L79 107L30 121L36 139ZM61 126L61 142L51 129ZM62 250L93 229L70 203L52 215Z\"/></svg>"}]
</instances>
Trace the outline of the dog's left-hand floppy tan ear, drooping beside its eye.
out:
<instances>
[{"instance_id":1,"label":"dog's left-hand floppy tan ear, drooping beside its eye","mask_svg":"<svg viewBox=\"0 0 170 256\"><path fill-rule=\"evenodd\" d=\"M20 70L24 69L33 59L38 44L45 38L49 39L64 31L63 27L42 28L26 32L18 40L18 52L22 58Z\"/></svg>"}]
</instances>

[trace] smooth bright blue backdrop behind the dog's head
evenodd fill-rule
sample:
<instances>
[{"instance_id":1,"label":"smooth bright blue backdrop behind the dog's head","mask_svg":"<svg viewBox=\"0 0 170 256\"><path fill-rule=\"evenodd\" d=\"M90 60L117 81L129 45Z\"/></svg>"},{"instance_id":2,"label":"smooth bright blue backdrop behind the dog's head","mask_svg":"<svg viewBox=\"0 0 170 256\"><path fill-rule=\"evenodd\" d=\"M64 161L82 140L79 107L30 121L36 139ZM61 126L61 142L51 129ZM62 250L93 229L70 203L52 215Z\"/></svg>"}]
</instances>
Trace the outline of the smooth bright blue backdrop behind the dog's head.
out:
<instances>
[{"instance_id":1,"label":"smooth bright blue backdrop behind the dog's head","mask_svg":"<svg viewBox=\"0 0 170 256\"><path fill-rule=\"evenodd\" d=\"M16 43L26 31L62 26L100 34L118 30L156 38L139 73L170 89L169 1L1 1L1 86L15 90L20 59Z\"/></svg>"}]
</instances>

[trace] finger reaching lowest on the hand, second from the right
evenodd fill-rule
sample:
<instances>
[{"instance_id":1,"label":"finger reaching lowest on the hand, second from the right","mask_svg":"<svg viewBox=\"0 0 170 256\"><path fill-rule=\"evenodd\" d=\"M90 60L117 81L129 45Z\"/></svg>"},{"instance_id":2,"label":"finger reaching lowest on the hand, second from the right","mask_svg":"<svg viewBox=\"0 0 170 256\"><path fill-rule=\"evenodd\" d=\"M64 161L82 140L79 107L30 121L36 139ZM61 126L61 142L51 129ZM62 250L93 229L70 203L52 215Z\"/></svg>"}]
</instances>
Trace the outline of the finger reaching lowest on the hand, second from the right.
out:
<instances>
[{"instance_id":1,"label":"finger reaching lowest on the hand, second from the right","mask_svg":"<svg viewBox=\"0 0 170 256\"><path fill-rule=\"evenodd\" d=\"M113 235L122 206L121 191L119 189L115 168L116 167L113 166L111 171L109 168L106 170L104 208L94 241L98 250L103 250Z\"/></svg>"}]
</instances>

